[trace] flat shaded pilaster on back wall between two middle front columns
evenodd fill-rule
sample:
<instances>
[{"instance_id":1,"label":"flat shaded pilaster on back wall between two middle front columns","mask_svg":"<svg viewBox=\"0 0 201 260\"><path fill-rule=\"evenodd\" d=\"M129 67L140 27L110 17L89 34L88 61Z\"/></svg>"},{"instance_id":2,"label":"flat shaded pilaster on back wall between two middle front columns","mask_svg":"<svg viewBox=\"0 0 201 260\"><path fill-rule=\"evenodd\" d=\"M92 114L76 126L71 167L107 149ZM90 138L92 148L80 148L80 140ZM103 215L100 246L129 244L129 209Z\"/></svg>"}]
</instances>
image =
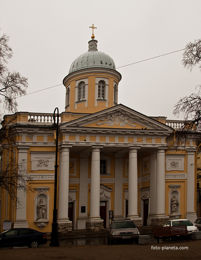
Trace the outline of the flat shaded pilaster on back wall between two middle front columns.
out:
<instances>
[{"instance_id":1,"label":"flat shaded pilaster on back wall between two middle front columns","mask_svg":"<svg viewBox=\"0 0 201 260\"><path fill-rule=\"evenodd\" d=\"M123 155L115 154L115 205L114 218L122 218Z\"/></svg>"}]
</instances>

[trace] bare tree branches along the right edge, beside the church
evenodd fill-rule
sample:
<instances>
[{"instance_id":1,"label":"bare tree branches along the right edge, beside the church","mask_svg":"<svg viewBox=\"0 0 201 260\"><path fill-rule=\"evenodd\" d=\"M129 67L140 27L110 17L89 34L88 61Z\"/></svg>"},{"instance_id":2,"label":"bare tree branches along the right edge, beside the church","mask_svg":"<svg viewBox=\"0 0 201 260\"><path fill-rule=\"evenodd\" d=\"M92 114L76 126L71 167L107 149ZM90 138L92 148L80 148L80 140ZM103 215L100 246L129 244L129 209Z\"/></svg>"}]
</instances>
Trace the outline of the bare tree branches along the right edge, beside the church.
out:
<instances>
[{"instance_id":1,"label":"bare tree branches along the right edge, beside the church","mask_svg":"<svg viewBox=\"0 0 201 260\"><path fill-rule=\"evenodd\" d=\"M190 71L196 65L201 70L201 39L197 39L193 43L190 42L185 46L182 64ZM184 117L183 125L176 131L176 148L181 144L185 145L189 137L200 142L201 85L197 87L199 87L198 93L180 98L175 105L174 115L179 116L182 113Z\"/></svg>"}]
</instances>

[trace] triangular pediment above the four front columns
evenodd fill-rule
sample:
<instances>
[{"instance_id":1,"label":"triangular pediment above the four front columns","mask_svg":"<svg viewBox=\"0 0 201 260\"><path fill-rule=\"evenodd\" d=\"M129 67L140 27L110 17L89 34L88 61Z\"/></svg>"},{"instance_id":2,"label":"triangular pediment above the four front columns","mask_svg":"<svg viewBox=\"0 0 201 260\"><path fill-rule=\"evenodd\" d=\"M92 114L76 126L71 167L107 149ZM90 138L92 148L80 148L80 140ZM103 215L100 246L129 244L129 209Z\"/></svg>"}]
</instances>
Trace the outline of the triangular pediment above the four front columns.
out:
<instances>
[{"instance_id":1,"label":"triangular pediment above the four front columns","mask_svg":"<svg viewBox=\"0 0 201 260\"><path fill-rule=\"evenodd\" d=\"M172 128L122 104L64 123L72 127L165 130Z\"/></svg>"}]
</instances>

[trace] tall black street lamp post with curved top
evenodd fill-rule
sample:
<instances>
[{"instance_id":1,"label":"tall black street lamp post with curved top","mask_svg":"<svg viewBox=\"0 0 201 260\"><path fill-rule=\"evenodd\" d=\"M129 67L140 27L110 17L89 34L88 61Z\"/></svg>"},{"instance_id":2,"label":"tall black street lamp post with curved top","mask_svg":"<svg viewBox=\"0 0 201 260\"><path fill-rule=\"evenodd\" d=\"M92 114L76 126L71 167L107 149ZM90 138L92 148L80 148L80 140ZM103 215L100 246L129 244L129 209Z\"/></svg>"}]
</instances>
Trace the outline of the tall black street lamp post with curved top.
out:
<instances>
[{"instance_id":1,"label":"tall black street lamp post with curved top","mask_svg":"<svg viewBox=\"0 0 201 260\"><path fill-rule=\"evenodd\" d=\"M55 111L57 110L57 123ZM56 157L55 157L55 165L54 165L54 209L53 209L53 222L52 222L52 233L51 240L49 243L50 247L59 247L59 239L58 239L58 224L57 224L57 158L58 158L58 136L59 136L59 109L55 108L53 114L54 123L49 127L51 130L56 130Z\"/></svg>"}]
</instances>

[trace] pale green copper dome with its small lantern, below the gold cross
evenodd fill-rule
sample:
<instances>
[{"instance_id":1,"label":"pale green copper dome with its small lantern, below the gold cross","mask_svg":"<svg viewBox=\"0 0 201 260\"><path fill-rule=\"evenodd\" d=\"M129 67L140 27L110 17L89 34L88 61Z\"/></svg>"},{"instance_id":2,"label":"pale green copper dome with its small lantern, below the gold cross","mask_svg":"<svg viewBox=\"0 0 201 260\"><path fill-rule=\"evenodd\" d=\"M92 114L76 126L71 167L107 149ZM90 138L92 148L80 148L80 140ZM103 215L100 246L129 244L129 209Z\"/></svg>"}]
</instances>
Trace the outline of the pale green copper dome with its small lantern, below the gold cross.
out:
<instances>
[{"instance_id":1,"label":"pale green copper dome with its small lantern, below the gold cross","mask_svg":"<svg viewBox=\"0 0 201 260\"><path fill-rule=\"evenodd\" d=\"M107 54L97 50L97 40L89 41L88 52L80 55L73 63L69 70L71 72L87 68L105 68L116 70L113 59Z\"/></svg>"}]
</instances>

